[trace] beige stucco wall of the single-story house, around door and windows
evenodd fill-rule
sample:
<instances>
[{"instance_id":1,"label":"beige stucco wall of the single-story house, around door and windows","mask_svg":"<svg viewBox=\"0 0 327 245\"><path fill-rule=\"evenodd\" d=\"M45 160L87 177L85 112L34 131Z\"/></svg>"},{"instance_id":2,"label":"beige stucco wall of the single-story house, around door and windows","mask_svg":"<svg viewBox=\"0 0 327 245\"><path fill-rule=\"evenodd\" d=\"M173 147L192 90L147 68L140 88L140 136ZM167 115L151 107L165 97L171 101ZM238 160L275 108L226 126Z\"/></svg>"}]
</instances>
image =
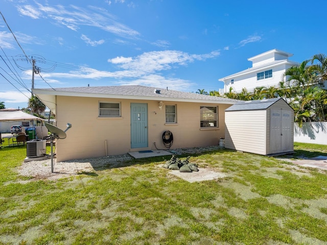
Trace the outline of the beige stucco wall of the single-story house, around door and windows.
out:
<instances>
[{"instance_id":1,"label":"beige stucco wall of the single-story house, around door and windows","mask_svg":"<svg viewBox=\"0 0 327 245\"><path fill-rule=\"evenodd\" d=\"M98 104L120 102L121 117L98 117ZM120 155L131 151L166 149L162 133L170 130L174 136L171 149L218 145L225 136L224 110L230 105L219 104L219 128L200 129L201 103L164 102L177 105L177 124L165 124L165 106L158 108L158 101L99 99L92 97L57 96L57 127L65 129L72 124L65 139L56 145L57 161L90 157ZM148 148L130 148L130 104L148 104ZM205 104L217 105L217 104Z\"/></svg>"}]
</instances>

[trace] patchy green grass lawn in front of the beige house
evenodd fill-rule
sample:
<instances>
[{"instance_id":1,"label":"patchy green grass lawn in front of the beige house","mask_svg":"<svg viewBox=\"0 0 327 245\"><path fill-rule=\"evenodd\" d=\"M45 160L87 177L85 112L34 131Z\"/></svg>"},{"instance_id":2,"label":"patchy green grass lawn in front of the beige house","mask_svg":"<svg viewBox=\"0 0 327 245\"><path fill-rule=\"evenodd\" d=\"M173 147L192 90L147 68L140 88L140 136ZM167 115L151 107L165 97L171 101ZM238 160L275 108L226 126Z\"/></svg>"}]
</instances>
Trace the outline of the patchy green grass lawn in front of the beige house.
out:
<instances>
[{"instance_id":1,"label":"patchy green grass lawn in front of the beige house","mask_svg":"<svg viewBox=\"0 0 327 245\"><path fill-rule=\"evenodd\" d=\"M325 149L295 143L294 157ZM0 149L0 244L327 243L318 169L218 150L190 159L228 176L215 181L178 179L162 157L50 181L19 176L25 157L26 146Z\"/></svg>"}]
</instances>

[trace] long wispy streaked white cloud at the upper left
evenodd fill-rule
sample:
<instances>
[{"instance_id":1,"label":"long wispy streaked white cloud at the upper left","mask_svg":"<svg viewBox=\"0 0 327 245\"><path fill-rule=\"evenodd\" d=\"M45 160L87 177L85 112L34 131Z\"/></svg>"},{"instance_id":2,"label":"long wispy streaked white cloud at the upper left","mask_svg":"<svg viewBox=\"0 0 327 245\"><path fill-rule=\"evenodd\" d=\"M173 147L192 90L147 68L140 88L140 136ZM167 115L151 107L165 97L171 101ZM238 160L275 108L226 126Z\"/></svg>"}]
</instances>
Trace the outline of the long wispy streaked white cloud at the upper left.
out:
<instances>
[{"instance_id":1,"label":"long wispy streaked white cloud at the upper left","mask_svg":"<svg viewBox=\"0 0 327 245\"><path fill-rule=\"evenodd\" d=\"M124 1L120 2L123 3ZM109 4L109 2L107 3ZM88 9L84 9L74 5L68 7L62 5L43 6L40 3L35 3L33 13L31 13L30 5L17 6L17 9L20 14L31 18L53 19L58 24L62 24L73 31L77 31L80 26L89 26L128 38L137 38L140 35L137 31L118 22L114 15L98 7L89 6Z\"/></svg>"}]
</instances>

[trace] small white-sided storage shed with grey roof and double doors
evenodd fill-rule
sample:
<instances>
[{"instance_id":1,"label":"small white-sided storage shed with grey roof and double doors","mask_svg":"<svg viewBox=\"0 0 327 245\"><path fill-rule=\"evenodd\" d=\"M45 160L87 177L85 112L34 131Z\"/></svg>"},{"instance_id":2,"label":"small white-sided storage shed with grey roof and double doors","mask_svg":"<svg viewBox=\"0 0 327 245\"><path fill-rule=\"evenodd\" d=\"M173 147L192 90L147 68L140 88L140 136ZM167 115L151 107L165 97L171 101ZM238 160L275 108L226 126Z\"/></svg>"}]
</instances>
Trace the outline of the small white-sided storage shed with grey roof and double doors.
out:
<instances>
[{"instance_id":1,"label":"small white-sided storage shed with grey roof and double doors","mask_svg":"<svg viewBox=\"0 0 327 245\"><path fill-rule=\"evenodd\" d=\"M225 148L278 155L294 151L294 111L282 99L242 101L225 110Z\"/></svg>"}]
</instances>

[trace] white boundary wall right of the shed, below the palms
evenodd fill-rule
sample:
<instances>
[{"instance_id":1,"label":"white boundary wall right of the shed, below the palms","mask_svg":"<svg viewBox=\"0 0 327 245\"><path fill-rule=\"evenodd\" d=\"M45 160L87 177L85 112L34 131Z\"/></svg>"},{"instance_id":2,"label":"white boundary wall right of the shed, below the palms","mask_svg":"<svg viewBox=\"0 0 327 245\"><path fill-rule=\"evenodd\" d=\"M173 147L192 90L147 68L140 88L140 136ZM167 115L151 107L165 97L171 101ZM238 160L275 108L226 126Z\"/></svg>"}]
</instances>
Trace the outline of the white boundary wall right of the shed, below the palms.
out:
<instances>
[{"instance_id":1,"label":"white boundary wall right of the shed, below the palms","mask_svg":"<svg viewBox=\"0 0 327 245\"><path fill-rule=\"evenodd\" d=\"M303 122L302 128L295 122L294 142L327 145L327 122Z\"/></svg>"}]
</instances>

